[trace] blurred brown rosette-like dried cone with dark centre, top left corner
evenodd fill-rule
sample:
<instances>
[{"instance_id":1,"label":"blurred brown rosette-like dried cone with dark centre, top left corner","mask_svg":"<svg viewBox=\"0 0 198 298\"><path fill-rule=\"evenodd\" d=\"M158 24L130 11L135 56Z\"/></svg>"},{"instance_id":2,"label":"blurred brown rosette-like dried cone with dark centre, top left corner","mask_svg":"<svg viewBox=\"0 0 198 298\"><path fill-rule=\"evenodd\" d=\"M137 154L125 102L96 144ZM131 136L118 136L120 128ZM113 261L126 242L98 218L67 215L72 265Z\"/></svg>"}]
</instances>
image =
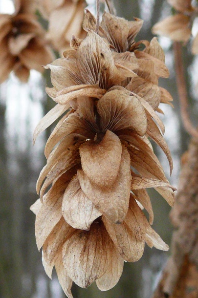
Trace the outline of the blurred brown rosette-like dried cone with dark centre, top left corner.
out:
<instances>
[{"instance_id":1,"label":"blurred brown rosette-like dried cone with dark centre, top left corner","mask_svg":"<svg viewBox=\"0 0 198 298\"><path fill-rule=\"evenodd\" d=\"M34 2L18 0L15 4L14 14L0 14L0 83L12 70L26 82L30 69L43 72L42 64L54 59L45 45L45 32L34 15Z\"/></svg>"}]
</instances>

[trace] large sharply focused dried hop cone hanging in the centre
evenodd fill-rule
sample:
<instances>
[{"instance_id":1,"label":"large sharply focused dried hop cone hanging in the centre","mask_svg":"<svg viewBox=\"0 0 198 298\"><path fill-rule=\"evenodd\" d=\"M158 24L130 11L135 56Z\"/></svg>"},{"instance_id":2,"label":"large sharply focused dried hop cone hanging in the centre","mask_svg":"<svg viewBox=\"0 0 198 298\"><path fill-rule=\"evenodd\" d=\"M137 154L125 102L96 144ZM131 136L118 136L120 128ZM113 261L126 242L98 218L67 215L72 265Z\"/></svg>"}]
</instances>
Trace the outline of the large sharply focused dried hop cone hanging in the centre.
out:
<instances>
[{"instance_id":1,"label":"large sharply focused dried hop cone hanging in the centre","mask_svg":"<svg viewBox=\"0 0 198 298\"><path fill-rule=\"evenodd\" d=\"M102 291L112 288L124 260L141 258L145 242L168 250L151 228L154 214L146 191L153 187L171 206L174 203L175 190L149 141L164 150L172 170L161 134L164 126L155 112L160 100L171 100L157 86L160 65L161 74L167 72L164 56L156 39L144 42L142 52L140 43L132 46L142 21L105 16L118 27L124 22L127 33L103 26L99 36L88 29L85 40L72 38L65 58L46 66L53 84L46 91L58 104L34 135L62 116L46 143L47 164L37 182L40 199L31 209L45 271L51 277L55 266L69 298L72 281L83 288L93 281ZM121 34L128 46L116 51ZM148 94L148 84L155 92Z\"/></svg>"}]
</instances>

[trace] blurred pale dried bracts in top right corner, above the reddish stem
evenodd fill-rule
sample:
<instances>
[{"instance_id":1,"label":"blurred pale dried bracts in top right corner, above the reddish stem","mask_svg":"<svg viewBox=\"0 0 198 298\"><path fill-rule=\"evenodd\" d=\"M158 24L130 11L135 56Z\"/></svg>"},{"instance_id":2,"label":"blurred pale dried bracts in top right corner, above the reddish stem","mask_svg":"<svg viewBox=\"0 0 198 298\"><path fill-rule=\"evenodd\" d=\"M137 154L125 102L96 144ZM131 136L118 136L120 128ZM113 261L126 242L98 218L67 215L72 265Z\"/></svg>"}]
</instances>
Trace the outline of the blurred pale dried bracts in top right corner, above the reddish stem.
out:
<instances>
[{"instance_id":1,"label":"blurred pale dried bracts in top right corner, above the reddish stem","mask_svg":"<svg viewBox=\"0 0 198 298\"><path fill-rule=\"evenodd\" d=\"M191 0L168 0L168 2L177 13L156 23L153 33L167 36L176 42L186 43L192 35L191 30L197 9L191 5ZM192 53L198 54L198 34L193 40Z\"/></svg>"}]
</instances>

